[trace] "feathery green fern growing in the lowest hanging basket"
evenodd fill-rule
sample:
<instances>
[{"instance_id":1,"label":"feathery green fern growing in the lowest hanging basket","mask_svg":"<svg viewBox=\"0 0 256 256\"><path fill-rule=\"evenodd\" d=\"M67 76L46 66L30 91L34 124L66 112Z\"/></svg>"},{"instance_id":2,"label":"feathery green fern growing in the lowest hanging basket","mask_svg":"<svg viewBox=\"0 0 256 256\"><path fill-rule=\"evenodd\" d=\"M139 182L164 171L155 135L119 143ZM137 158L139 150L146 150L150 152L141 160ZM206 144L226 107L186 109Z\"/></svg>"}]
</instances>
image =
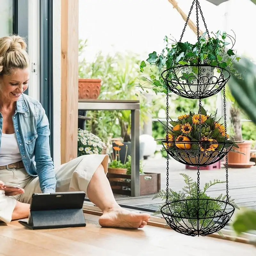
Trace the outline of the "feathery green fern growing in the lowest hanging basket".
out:
<instances>
[{"instance_id":1,"label":"feathery green fern growing in the lowest hanging basket","mask_svg":"<svg viewBox=\"0 0 256 256\"><path fill-rule=\"evenodd\" d=\"M196 211L189 211L191 209L197 209L198 207L198 202L197 200L189 200L189 201L184 201L186 199L197 199L197 182L194 181L191 177L189 177L187 174L184 173L180 173L180 175L184 178L184 182L185 182L185 186L182 188L182 190L180 190L179 192L176 192L174 190L172 190L171 188L168 189L168 201L169 202L173 202L173 201L178 201L178 200L183 200L180 202L177 202L175 204L172 204L171 210L172 212L177 212L178 214L182 214L183 217L187 217L188 218L188 224L191 224L192 226L195 226L197 224L197 212ZM206 182L204 185L204 189L199 189L199 199L214 199L214 200L220 200L220 201L225 201L227 199L227 195L223 195L220 194L217 197L210 197L206 194L206 191L211 188L212 186L216 185L216 184L221 184L221 183L225 183L226 181L223 180L213 180L213 181L209 181ZM157 198L161 198L164 203L161 204L159 206L159 209L153 213L153 215L158 215L161 214L161 208L162 206L164 206L166 203L166 190L160 190L153 198L157 199ZM234 199L231 199L231 197L229 197L229 203L233 204L233 206L236 209L239 209L238 205L235 203ZM213 212L222 212L222 203L221 202L217 202L217 201L212 201L212 200L199 200L199 218L209 218L209 219L202 219L199 220L199 223L202 227L207 227L208 225L211 224L212 222L212 214ZM169 212L169 208L167 208L168 211L166 211L166 213ZM165 211L165 210L164 210ZM193 219L195 218L195 219ZM181 221L181 218L175 218L177 221ZM168 225L166 225L168 226ZM220 236L223 236L222 232L219 231L218 232Z\"/></svg>"}]
</instances>

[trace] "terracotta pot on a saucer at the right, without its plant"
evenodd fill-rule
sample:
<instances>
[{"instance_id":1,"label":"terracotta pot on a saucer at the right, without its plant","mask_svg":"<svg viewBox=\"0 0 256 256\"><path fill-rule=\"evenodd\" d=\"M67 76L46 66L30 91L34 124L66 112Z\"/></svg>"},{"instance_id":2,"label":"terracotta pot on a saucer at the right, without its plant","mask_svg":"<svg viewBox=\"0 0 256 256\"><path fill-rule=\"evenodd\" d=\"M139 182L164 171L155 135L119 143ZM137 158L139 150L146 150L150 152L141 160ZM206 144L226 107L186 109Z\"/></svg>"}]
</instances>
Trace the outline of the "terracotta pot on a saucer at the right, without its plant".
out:
<instances>
[{"instance_id":1,"label":"terracotta pot on a saucer at the right, without its plant","mask_svg":"<svg viewBox=\"0 0 256 256\"><path fill-rule=\"evenodd\" d=\"M254 163L250 162L251 155L251 144L252 141L246 140L244 142L238 143L239 148L234 148L237 151L243 153L228 152L228 167L231 168L250 168ZM224 159L225 161L225 159Z\"/></svg>"}]
</instances>

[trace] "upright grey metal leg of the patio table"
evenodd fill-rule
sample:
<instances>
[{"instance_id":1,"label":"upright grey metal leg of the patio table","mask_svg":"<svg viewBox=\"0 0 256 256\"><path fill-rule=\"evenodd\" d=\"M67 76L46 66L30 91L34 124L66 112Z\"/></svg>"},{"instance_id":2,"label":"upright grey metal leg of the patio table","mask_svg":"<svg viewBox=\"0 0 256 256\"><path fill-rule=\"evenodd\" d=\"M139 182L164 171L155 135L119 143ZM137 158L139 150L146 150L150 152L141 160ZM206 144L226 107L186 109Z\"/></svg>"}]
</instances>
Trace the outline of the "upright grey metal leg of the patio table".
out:
<instances>
[{"instance_id":1,"label":"upright grey metal leg of the patio table","mask_svg":"<svg viewBox=\"0 0 256 256\"><path fill-rule=\"evenodd\" d=\"M140 110L131 110L131 196L140 196Z\"/></svg>"}]
</instances>

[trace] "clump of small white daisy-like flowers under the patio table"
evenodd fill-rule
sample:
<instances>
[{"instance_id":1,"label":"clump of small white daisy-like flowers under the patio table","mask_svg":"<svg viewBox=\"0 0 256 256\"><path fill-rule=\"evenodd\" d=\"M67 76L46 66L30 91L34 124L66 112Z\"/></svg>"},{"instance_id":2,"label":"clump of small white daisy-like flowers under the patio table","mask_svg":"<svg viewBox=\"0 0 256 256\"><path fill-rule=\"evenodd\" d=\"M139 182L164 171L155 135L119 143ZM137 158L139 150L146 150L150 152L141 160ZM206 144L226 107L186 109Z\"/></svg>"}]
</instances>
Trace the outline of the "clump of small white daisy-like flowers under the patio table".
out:
<instances>
[{"instance_id":1,"label":"clump of small white daisy-like flowers under the patio table","mask_svg":"<svg viewBox=\"0 0 256 256\"><path fill-rule=\"evenodd\" d=\"M92 132L78 128L77 156L101 154L105 144Z\"/></svg>"}]
</instances>

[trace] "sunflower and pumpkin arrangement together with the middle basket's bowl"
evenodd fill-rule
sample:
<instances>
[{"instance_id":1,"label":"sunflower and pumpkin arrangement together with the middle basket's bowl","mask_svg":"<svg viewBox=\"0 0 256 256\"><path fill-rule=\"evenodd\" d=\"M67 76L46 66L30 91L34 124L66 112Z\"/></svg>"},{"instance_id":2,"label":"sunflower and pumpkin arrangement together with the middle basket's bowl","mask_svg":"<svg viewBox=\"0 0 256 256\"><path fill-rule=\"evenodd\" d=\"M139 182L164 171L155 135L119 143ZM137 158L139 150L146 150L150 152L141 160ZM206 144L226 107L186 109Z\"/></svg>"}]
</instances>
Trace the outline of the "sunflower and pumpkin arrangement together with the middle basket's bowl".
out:
<instances>
[{"instance_id":1,"label":"sunflower and pumpkin arrangement together with the middle basket's bowl","mask_svg":"<svg viewBox=\"0 0 256 256\"><path fill-rule=\"evenodd\" d=\"M229 150L236 151L233 147L238 146L227 140L229 135L216 116L217 111L209 116L201 107L201 114L190 111L176 121L171 119L170 127L164 125L168 139L162 141L167 153L181 163L203 166L219 161Z\"/></svg>"}]
</instances>

